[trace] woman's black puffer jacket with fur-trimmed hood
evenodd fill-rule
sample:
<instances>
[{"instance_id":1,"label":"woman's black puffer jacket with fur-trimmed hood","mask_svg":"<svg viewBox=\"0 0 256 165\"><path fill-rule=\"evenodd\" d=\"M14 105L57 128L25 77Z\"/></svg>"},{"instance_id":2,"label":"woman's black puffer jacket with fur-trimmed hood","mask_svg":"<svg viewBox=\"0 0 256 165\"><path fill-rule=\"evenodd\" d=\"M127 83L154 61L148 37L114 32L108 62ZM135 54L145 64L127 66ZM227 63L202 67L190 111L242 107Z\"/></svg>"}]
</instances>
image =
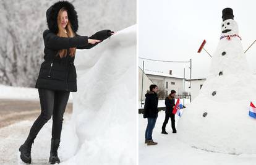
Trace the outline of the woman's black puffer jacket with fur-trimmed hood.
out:
<instances>
[{"instance_id":1,"label":"woman's black puffer jacket with fur-trimmed hood","mask_svg":"<svg viewBox=\"0 0 256 165\"><path fill-rule=\"evenodd\" d=\"M75 36L72 38L56 35L58 33L57 16L61 7L66 7L68 11L69 21L75 32ZM90 49L96 44L89 44L88 38L103 41L111 36L111 30L102 30L90 37L77 35L77 12L75 12L74 6L67 1L59 1L49 7L46 12L46 18L49 30L43 32L45 61L41 64L35 87L75 92L77 91L77 74L74 66L75 57L67 55L61 58L58 55L59 50L67 49L67 54L69 54L69 48Z\"/></svg>"}]
</instances>

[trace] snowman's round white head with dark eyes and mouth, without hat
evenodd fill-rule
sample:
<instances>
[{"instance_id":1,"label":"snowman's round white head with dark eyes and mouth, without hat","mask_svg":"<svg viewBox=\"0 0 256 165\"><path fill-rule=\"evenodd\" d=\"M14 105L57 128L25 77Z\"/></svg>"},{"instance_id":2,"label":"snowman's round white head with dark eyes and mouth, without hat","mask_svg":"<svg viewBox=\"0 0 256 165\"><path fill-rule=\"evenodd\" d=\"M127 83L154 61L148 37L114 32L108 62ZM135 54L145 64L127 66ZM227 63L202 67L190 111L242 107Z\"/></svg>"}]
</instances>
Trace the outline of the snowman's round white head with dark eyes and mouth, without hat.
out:
<instances>
[{"instance_id":1,"label":"snowman's round white head with dark eyes and mouth, without hat","mask_svg":"<svg viewBox=\"0 0 256 165\"><path fill-rule=\"evenodd\" d=\"M233 19L224 20L221 23L221 35L238 35L238 25Z\"/></svg>"}]
</instances>

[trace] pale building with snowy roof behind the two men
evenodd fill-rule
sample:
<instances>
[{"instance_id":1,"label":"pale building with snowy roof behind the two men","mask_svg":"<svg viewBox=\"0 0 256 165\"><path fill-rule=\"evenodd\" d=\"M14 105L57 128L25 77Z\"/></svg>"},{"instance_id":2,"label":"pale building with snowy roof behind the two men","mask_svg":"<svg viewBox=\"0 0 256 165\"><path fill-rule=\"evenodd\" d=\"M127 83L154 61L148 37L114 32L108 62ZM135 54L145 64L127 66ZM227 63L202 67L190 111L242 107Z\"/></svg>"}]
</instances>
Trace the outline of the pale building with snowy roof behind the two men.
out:
<instances>
[{"instance_id":1,"label":"pale building with snowy roof behind the two men","mask_svg":"<svg viewBox=\"0 0 256 165\"><path fill-rule=\"evenodd\" d=\"M141 73L140 73L141 72ZM150 70L144 70L145 75L147 76L148 80L150 80L151 84L156 84L160 90L163 90L164 97L168 96L171 93L171 90L176 90L176 95L183 95L183 80L184 78L178 77L172 74L172 70L169 70L169 74L165 74L163 72L155 72ZM145 78L145 77L144 77ZM146 84L149 81L143 80ZM142 81L142 69L139 68L139 101L141 101L141 83ZM144 90L145 89L145 90ZM145 95L146 91L149 90L149 85L147 87L143 87L143 95ZM143 96L142 99L145 99Z\"/></svg>"}]
</instances>

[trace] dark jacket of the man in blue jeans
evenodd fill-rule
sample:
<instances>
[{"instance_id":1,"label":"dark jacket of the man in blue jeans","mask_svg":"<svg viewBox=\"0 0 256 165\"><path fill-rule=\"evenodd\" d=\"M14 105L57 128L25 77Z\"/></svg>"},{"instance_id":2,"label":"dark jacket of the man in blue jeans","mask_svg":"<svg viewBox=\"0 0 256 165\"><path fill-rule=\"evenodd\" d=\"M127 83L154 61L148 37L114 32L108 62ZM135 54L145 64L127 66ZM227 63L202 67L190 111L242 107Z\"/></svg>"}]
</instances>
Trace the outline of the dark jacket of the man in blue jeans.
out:
<instances>
[{"instance_id":1,"label":"dark jacket of the man in blue jeans","mask_svg":"<svg viewBox=\"0 0 256 165\"><path fill-rule=\"evenodd\" d=\"M155 118L158 115L158 96L154 91L147 91L145 95L145 105L143 111L143 117Z\"/></svg>"}]
</instances>

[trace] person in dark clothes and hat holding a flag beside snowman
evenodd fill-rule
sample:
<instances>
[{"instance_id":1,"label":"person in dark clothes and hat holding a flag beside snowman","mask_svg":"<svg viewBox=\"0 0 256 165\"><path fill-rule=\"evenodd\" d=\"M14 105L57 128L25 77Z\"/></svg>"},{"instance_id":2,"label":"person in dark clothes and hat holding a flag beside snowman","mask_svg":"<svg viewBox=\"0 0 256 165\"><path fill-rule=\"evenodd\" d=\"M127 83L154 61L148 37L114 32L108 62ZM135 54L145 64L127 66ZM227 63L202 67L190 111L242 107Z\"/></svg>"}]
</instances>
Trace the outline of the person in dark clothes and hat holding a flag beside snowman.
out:
<instances>
[{"instance_id":1,"label":"person in dark clothes and hat holding a flag beside snowman","mask_svg":"<svg viewBox=\"0 0 256 165\"><path fill-rule=\"evenodd\" d=\"M166 127L166 124L168 124L169 118L171 118L171 128L173 129L173 133L177 132L175 128L175 114L173 114L173 108L175 107L175 95L176 95L176 91L171 90L171 93L169 94L169 96L165 98L166 109L165 109L165 119L162 126L163 134L168 134L168 132L166 132L165 130L165 127Z\"/></svg>"}]
</instances>

